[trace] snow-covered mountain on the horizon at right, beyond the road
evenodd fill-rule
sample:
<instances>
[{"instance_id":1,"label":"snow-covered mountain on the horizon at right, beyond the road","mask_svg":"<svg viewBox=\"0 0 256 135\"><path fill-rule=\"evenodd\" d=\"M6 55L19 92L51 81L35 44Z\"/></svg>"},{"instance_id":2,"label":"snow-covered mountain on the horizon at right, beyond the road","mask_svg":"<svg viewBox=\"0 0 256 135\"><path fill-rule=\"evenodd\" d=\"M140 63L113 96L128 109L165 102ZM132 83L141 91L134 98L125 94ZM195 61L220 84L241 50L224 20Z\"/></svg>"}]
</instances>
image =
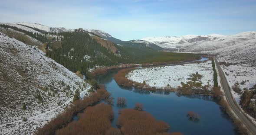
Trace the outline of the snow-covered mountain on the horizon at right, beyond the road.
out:
<instances>
[{"instance_id":1,"label":"snow-covered mountain on the horizon at right, beyond the road","mask_svg":"<svg viewBox=\"0 0 256 135\"><path fill-rule=\"evenodd\" d=\"M142 40L153 42L162 48L174 48L178 51L209 51L255 38L256 32L254 31L236 35L184 35L181 37L148 37Z\"/></svg>"}]
</instances>

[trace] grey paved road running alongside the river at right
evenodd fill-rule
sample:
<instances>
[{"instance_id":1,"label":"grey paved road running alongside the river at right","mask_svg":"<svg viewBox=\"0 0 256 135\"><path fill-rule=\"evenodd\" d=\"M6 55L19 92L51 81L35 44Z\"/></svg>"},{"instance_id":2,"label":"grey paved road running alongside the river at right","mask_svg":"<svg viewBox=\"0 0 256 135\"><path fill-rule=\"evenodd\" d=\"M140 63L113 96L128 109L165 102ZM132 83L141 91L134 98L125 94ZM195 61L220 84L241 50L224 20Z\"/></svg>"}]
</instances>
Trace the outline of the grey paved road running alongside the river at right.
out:
<instances>
[{"instance_id":1,"label":"grey paved road running alongside the river at right","mask_svg":"<svg viewBox=\"0 0 256 135\"><path fill-rule=\"evenodd\" d=\"M246 116L245 113L243 113L243 111L241 111L240 107L237 105L236 101L233 99L225 74L220 68L219 62L217 61L216 57L214 57L214 60L219 71L219 76L222 82L223 90L225 92L227 103L230 104L231 109L233 109L234 113L236 113L236 116L239 117L239 119L247 127L249 132L251 132L252 135L256 135L256 125Z\"/></svg>"}]
</instances>

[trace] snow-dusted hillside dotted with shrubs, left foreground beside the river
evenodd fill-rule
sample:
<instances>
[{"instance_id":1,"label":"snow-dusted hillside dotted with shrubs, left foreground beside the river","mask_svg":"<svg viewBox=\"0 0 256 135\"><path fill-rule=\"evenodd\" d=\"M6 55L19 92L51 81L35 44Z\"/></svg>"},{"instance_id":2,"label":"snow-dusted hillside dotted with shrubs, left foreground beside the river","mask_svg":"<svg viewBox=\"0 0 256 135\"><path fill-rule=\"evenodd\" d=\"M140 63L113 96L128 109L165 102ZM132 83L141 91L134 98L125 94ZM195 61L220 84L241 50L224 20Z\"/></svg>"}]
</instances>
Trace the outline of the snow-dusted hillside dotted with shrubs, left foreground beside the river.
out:
<instances>
[{"instance_id":1,"label":"snow-dusted hillside dotted with shrubs, left foreground beside the river","mask_svg":"<svg viewBox=\"0 0 256 135\"><path fill-rule=\"evenodd\" d=\"M43 51L0 33L0 132L27 135L62 112L84 81Z\"/></svg>"}]
</instances>

